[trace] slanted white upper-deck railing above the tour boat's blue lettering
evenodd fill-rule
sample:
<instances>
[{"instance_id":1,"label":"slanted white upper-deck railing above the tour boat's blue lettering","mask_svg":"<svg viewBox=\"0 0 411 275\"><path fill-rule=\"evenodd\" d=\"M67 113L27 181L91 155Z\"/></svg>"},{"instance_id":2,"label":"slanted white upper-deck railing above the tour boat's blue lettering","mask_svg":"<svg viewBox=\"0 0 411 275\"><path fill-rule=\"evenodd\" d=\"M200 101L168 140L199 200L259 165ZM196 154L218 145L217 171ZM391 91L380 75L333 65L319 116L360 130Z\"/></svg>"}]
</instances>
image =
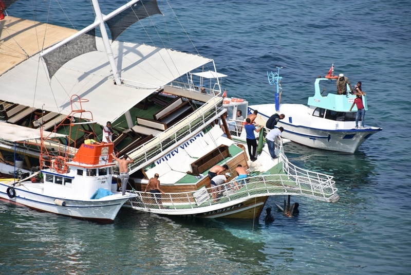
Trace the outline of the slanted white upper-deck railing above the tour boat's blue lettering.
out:
<instances>
[{"instance_id":1,"label":"slanted white upper-deck railing above the tour boat's blue lettering","mask_svg":"<svg viewBox=\"0 0 411 275\"><path fill-rule=\"evenodd\" d=\"M133 151L128 152L128 155L134 159L134 162L129 165L130 173L142 168L147 161L158 157L167 148L175 145L176 142L192 135L200 127L206 126L206 123L218 114L222 109L222 98L213 97L201 107L196 109L192 114L157 135L150 141L140 145ZM118 167L116 167L118 169Z\"/></svg>"}]
</instances>

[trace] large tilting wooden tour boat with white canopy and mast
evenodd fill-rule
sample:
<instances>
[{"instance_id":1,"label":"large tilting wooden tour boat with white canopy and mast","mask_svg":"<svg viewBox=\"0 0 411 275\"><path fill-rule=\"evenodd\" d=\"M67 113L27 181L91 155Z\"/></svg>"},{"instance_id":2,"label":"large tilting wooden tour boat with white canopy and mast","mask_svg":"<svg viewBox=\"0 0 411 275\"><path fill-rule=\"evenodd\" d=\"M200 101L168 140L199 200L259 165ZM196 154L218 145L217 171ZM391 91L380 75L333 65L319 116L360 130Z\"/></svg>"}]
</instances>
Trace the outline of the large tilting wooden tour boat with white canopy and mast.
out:
<instances>
[{"instance_id":1,"label":"large tilting wooden tour boat with white canopy and mast","mask_svg":"<svg viewBox=\"0 0 411 275\"><path fill-rule=\"evenodd\" d=\"M124 14L133 17L134 22L136 18L158 14L156 1L135 0L105 16L101 14L98 2L92 2L97 14L95 23L78 33L63 27L5 17L2 26L7 32L1 33L1 39L10 43L7 48L13 49L6 58L11 60L11 56L16 56L8 66L0 65L0 81L10 91L1 96L5 121L33 129L39 125L44 130L54 127L61 135L71 132L92 134L96 140L101 137L102 129L91 129L88 124L96 121L102 128L106 121L110 121L114 134L113 143L109 144L113 144L120 156L127 153L134 160L128 166L127 190L136 197L127 205L140 211L257 218L270 195L290 194L338 201L332 176L296 168L284 154L272 160L266 151L261 153L259 166L256 166L248 159L244 145L223 135L215 121L227 113L220 96L221 79L226 75L217 72L212 59L116 40L126 28L116 29ZM112 41L108 40L104 22L110 26ZM35 35L41 34L38 40L44 41L42 48L36 43L32 45L35 39L27 40L23 35L30 30L28 26L35 26ZM97 26L100 26L102 38L92 34ZM13 39L9 39L11 37ZM86 44L91 47L85 49ZM71 46L80 46L80 49L71 49ZM20 51L21 55L15 51ZM70 55L67 52L75 53L72 59L65 59ZM25 81L16 85L22 75L25 75ZM42 92L35 94L33 99L36 90ZM90 101L87 109L93 119L81 116L83 108L78 103L70 104L73 95ZM79 112L72 113L73 108ZM70 130L65 123L72 124ZM66 145L81 152L83 145L79 144L83 141L84 138L78 137L67 141ZM7 152L6 146L1 146L0 150ZM33 146L29 151L31 154L42 152ZM8 152L11 153L10 148ZM15 146L14 152L28 155L24 146ZM28 166L27 159L30 158L24 159ZM70 161L66 163L74 171L76 163L73 161L76 160ZM218 198L213 197L217 191L211 189L207 176L216 164L227 164L230 173L230 182L221 185ZM247 180L237 182L241 188L234 189L238 164L249 172L249 176ZM110 189L115 193L118 167L113 170L115 175ZM161 198L158 194L144 192L148 180L156 173L164 191Z\"/></svg>"}]
</instances>

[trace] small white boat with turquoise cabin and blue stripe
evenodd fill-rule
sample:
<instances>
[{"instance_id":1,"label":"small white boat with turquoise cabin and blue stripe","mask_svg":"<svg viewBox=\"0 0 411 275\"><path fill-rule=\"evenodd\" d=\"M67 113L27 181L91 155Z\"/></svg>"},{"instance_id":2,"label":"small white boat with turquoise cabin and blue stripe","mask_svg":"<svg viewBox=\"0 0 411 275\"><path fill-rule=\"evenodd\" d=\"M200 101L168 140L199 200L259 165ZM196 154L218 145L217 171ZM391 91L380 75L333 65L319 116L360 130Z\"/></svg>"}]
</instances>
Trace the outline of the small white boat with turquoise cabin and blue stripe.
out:
<instances>
[{"instance_id":1,"label":"small white boat with turquoise cabin and blue stripe","mask_svg":"<svg viewBox=\"0 0 411 275\"><path fill-rule=\"evenodd\" d=\"M257 110L266 121L275 113L284 114L285 118L276 125L284 127L283 137L313 148L354 153L372 134L382 130L369 125L356 127L357 106L350 111L356 95L338 95L336 79L330 75L315 79L314 96L308 98L308 106L281 103L282 77L279 76L280 67L277 69L277 72L268 74L269 82L277 87L275 102L251 105L249 112ZM347 91L350 91L348 84ZM367 96L363 95L362 100L367 111Z\"/></svg>"}]
</instances>

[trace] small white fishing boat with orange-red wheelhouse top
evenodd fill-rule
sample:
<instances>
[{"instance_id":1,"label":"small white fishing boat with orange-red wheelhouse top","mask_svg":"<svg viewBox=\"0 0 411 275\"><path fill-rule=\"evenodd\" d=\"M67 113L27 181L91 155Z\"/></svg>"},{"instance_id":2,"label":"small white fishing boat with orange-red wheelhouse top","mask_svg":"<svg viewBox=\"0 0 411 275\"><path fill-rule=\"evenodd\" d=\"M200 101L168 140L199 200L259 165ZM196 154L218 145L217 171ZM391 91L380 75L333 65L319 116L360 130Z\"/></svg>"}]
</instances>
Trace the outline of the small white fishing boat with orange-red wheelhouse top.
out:
<instances>
[{"instance_id":1,"label":"small white fishing boat with orange-red wheelhouse top","mask_svg":"<svg viewBox=\"0 0 411 275\"><path fill-rule=\"evenodd\" d=\"M80 100L74 100L81 106ZM70 117L77 117L79 113L82 116L86 114L81 109L73 111ZM94 123L92 116L81 120ZM68 121L60 126L71 128L76 123ZM136 197L136 194L128 192L124 195L111 192L113 167L116 165L110 156L113 143L83 143L77 150L62 144L62 140L75 140L72 136L0 123L2 140L22 143L27 148L38 146L41 152L40 167L33 169L34 173L22 179L0 180L0 198L44 212L110 223L124 203Z\"/></svg>"}]
</instances>

